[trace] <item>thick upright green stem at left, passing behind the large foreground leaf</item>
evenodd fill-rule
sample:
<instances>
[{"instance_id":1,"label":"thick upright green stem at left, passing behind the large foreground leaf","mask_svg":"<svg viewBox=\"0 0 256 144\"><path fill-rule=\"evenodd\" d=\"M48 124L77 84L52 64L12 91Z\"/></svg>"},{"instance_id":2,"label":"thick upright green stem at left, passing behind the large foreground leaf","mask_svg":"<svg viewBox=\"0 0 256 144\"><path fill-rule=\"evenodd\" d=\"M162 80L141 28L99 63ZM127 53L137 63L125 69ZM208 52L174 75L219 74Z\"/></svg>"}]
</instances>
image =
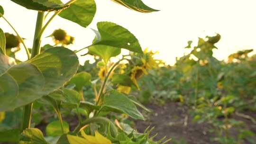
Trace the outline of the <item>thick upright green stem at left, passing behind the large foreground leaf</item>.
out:
<instances>
[{"instance_id":1,"label":"thick upright green stem at left, passing behind the large foreground leaf","mask_svg":"<svg viewBox=\"0 0 256 144\"><path fill-rule=\"evenodd\" d=\"M41 37L40 36L38 37L38 34L42 29L43 22L44 22L44 12L39 11L37 14L37 24L36 24L31 58L33 58L34 56L40 53ZM23 120L22 120L21 131L30 127L32 108L33 108L33 103L30 103L26 105L23 109Z\"/></svg>"}]
</instances>

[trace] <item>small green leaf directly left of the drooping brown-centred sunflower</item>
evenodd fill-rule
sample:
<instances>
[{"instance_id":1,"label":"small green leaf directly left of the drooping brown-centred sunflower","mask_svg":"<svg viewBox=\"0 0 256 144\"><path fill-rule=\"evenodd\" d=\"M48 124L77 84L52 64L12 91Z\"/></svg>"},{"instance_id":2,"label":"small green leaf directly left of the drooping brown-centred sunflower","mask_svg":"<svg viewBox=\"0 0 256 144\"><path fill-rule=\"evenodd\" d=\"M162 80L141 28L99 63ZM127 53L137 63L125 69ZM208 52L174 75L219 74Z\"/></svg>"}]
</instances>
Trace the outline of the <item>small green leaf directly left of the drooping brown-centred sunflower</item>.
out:
<instances>
[{"instance_id":1,"label":"small green leaf directly left of the drooping brown-centred sunflower","mask_svg":"<svg viewBox=\"0 0 256 144\"><path fill-rule=\"evenodd\" d=\"M124 74L113 74L112 76L112 83L113 84L120 84L123 86L132 86L134 83L131 81L128 75Z\"/></svg>"}]
</instances>

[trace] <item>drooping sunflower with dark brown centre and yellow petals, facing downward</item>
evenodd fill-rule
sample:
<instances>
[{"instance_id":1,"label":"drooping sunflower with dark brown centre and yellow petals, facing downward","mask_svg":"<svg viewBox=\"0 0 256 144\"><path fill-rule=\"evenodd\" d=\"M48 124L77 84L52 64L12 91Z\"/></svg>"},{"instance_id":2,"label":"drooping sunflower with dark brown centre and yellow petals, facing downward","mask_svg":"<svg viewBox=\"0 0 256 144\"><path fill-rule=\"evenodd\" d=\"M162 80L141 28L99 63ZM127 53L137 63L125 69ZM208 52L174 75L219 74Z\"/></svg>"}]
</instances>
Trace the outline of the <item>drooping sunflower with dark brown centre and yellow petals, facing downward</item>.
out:
<instances>
[{"instance_id":1,"label":"drooping sunflower with dark brown centre and yellow petals, facing downward","mask_svg":"<svg viewBox=\"0 0 256 144\"><path fill-rule=\"evenodd\" d=\"M143 76L143 74L148 74L146 72L146 69L144 67L141 66L135 66L132 68L131 70L131 75L130 78L132 80L132 82L136 85L137 89L139 89L138 83L137 83L137 79L139 79L140 77Z\"/></svg>"}]
</instances>

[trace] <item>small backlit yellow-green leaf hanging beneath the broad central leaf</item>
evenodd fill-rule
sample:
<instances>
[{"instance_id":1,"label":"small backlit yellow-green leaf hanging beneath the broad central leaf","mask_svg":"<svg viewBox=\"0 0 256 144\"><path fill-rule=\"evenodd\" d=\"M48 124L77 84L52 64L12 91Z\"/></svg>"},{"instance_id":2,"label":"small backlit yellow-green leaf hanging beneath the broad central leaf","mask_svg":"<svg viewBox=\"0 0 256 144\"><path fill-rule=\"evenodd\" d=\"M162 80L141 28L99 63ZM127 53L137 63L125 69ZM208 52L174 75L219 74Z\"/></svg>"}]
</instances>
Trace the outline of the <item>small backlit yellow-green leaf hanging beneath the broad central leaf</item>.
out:
<instances>
[{"instance_id":1,"label":"small backlit yellow-green leaf hanging beneath the broad central leaf","mask_svg":"<svg viewBox=\"0 0 256 144\"><path fill-rule=\"evenodd\" d=\"M100 56L105 63L109 62L110 57L117 56L121 53L120 48L107 45L93 45L88 49L88 53Z\"/></svg>"}]
</instances>

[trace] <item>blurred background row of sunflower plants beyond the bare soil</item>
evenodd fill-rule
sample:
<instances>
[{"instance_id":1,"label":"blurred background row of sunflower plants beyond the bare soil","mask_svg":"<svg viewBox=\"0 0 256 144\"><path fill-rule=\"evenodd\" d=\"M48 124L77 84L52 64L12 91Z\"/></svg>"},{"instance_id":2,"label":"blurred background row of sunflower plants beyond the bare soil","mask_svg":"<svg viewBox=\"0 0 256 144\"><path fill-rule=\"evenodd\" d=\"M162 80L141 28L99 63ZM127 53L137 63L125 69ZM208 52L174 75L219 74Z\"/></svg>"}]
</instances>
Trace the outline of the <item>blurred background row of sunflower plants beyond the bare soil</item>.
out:
<instances>
[{"instance_id":1,"label":"blurred background row of sunflower plants beyond the bare soil","mask_svg":"<svg viewBox=\"0 0 256 144\"><path fill-rule=\"evenodd\" d=\"M189 54L177 58L174 66L165 65L149 72L140 83L145 87L139 92L143 103L164 104L166 100L182 102L189 106L193 121L210 123L220 144L254 144L255 134L243 121L233 116L245 117L244 112L256 111L256 54L253 50L230 54L228 61L213 56L220 35L199 38ZM231 131L236 131L231 135Z\"/></svg>"}]
</instances>

